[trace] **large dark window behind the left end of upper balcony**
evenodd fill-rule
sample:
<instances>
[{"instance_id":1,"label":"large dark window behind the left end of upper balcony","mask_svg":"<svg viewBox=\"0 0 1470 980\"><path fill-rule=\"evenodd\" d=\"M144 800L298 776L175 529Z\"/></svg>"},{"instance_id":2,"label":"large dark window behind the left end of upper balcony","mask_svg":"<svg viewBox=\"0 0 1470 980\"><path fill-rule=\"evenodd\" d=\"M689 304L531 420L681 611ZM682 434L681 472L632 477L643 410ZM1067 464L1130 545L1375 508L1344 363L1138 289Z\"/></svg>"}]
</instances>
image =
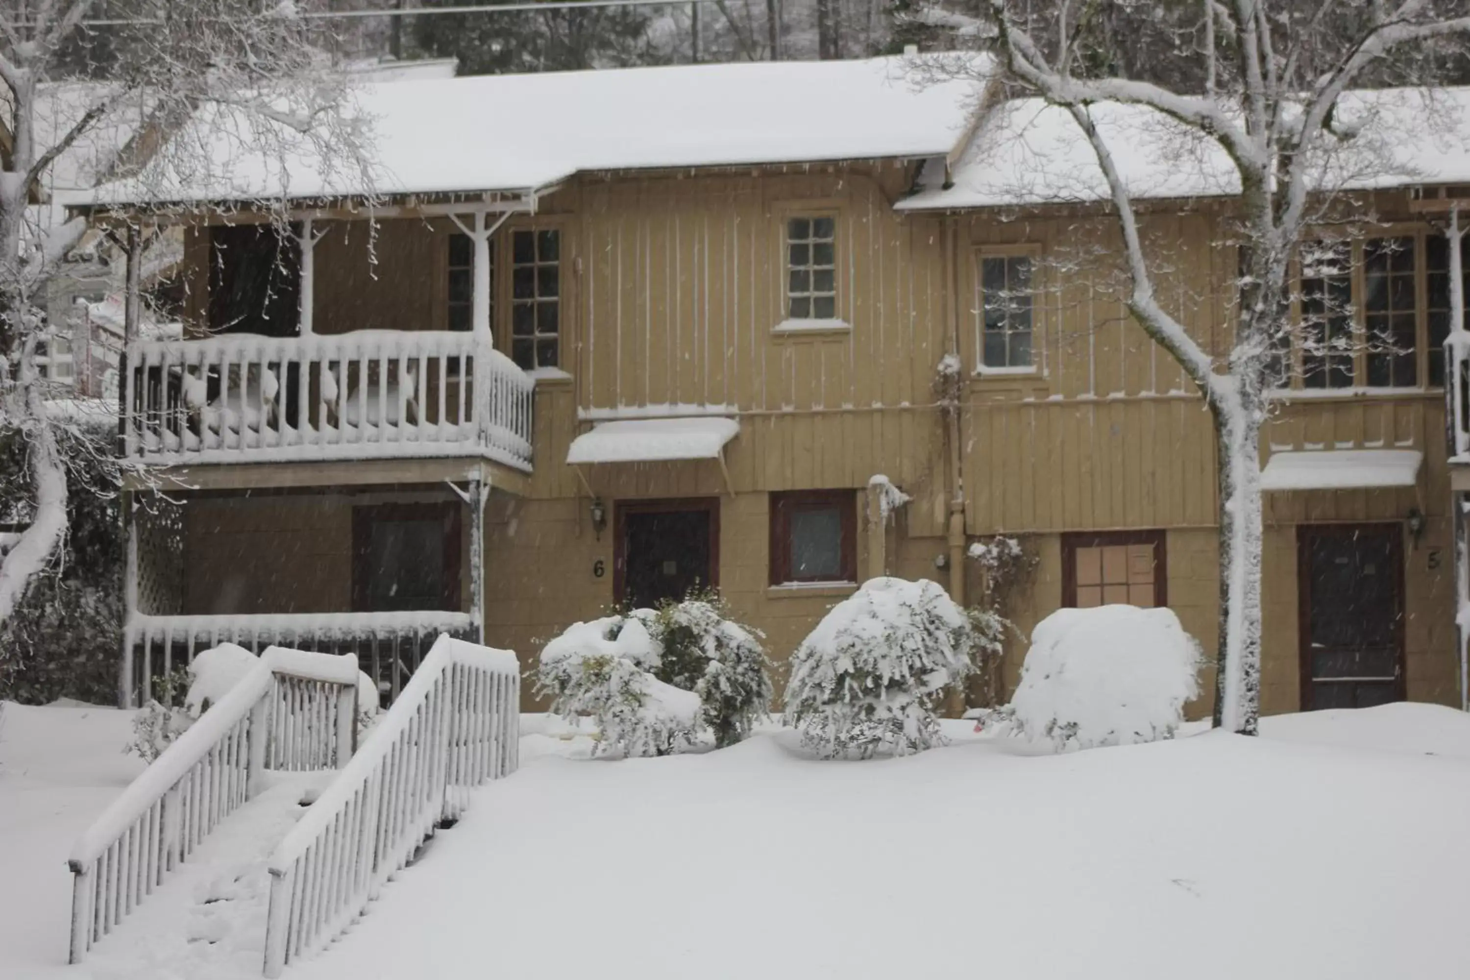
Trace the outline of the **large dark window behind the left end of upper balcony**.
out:
<instances>
[{"instance_id":1,"label":"large dark window behind the left end of upper balcony","mask_svg":"<svg viewBox=\"0 0 1470 980\"><path fill-rule=\"evenodd\" d=\"M209 328L215 332L295 336L300 328L301 248L270 225L209 229Z\"/></svg>"}]
</instances>

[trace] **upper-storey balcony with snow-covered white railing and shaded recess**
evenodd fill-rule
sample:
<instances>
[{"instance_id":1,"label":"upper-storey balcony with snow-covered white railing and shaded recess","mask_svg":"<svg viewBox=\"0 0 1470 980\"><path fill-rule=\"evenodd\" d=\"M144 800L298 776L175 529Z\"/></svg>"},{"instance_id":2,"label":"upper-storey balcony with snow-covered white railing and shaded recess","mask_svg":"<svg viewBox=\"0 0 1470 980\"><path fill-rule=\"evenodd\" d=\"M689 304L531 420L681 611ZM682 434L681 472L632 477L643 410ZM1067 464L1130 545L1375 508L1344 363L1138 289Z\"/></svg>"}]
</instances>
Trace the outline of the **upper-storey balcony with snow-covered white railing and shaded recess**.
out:
<instances>
[{"instance_id":1,"label":"upper-storey balcony with snow-covered white railing and shaded recess","mask_svg":"<svg viewBox=\"0 0 1470 980\"><path fill-rule=\"evenodd\" d=\"M494 336L554 347L557 241L501 269L512 301L497 323L492 235L509 213L487 223L490 206L460 207L375 226L304 213L282 226L187 231L187 326L172 336L128 331L123 458L178 467L473 457L529 473L534 382ZM534 244L523 231L503 237Z\"/></svg>"}]
</instances>

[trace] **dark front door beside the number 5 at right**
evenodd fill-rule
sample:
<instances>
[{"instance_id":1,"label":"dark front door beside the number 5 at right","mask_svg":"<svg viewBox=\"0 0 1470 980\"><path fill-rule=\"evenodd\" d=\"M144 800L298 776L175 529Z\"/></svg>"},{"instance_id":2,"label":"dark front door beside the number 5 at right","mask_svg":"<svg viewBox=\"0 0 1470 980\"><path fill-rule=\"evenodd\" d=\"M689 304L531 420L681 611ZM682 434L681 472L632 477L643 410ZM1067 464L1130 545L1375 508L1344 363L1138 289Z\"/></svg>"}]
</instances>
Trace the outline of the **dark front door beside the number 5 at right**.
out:
<instances>
[{"instance_id":1,"label":"dark front door beside the number 5 at right","mask_svg":"<svg viewBox=\"0 0 1470 980\"><path fill-rule=\"evenodd\" d=\"M1301 527L1301 707L1404 698L1404 554L1398 525Z\"/></svg>"}]
</instances>

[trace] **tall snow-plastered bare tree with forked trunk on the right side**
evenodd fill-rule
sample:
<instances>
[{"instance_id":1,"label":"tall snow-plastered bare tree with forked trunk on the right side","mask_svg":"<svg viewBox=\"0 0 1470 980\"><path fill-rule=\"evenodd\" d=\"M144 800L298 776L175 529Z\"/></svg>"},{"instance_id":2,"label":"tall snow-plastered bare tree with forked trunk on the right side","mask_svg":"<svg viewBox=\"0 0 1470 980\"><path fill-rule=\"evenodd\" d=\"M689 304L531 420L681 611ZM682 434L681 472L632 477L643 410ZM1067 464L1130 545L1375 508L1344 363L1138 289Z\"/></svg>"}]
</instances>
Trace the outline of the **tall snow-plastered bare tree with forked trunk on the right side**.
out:
<instances>
[{"instance_id":1,"label":"tall snow-plastered bare tree with forked trunk on the right side","mask_svg":"<svg viewBox=\"0 0 1470 980\"><path fill-rule=\"evenodd\" d=\"M1011 84L1070 113L1105 179L1123 242L1126 307L1183 369L1214 422L1219 460L1220 652L1216 724L1254 735L1260 708L1261 486L1260 429L1292 338L1291 262L1304 234L1332 206L1333 181L1372 167L1364 138L1344 119L1357 84L1436 84L1454 62L1452 40L1470 31L1463 0L1129 0L1054 4L986 0L985 46ZM1139 10L1170 25L1167 57L1129 78L1116 57L1116 24ZM1191 10L1194 12L1191 15ZM1126 43L1126 41L1123 41ZM948 60L947 65L956 62ZM1198 66L1202 65L1202 71ZM931 69L932 71L932 69ZM953 69L947 69L953 71ZM1176 82L1158 79L1179 79ZM1161 306L1139 209L1119 160L1132 148L1098 125L1098 106L1157 113L1227 160L1239 192L1232 238L1241 247L1229 350L1213 354ZM1348 166L1335 160L1354 157ZM1336 178L1333 176L1336 175Z\"/></svg>"}]
</instances>

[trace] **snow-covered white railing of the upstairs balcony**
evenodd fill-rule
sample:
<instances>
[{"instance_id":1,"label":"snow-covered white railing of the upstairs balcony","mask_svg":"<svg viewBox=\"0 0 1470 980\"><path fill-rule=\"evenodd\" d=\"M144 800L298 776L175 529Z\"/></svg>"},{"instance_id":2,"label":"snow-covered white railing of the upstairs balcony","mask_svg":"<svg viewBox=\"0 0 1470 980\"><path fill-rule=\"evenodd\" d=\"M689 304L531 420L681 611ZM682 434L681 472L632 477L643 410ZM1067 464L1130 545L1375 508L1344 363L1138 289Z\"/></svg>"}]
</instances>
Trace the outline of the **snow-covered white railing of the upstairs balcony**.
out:
<instances>
[{"instance_id":1,"label":"snow-covered white railing of the upstairs balcony","mask_svg":"<svg viewBox=\"0 0 1470 980\"><path fill-rule=\"evenodd\" d=\"M534 383L448 331L137 341L122 451L151 464L484 454L531 469Z\"/></svg>"}]
</instances>

